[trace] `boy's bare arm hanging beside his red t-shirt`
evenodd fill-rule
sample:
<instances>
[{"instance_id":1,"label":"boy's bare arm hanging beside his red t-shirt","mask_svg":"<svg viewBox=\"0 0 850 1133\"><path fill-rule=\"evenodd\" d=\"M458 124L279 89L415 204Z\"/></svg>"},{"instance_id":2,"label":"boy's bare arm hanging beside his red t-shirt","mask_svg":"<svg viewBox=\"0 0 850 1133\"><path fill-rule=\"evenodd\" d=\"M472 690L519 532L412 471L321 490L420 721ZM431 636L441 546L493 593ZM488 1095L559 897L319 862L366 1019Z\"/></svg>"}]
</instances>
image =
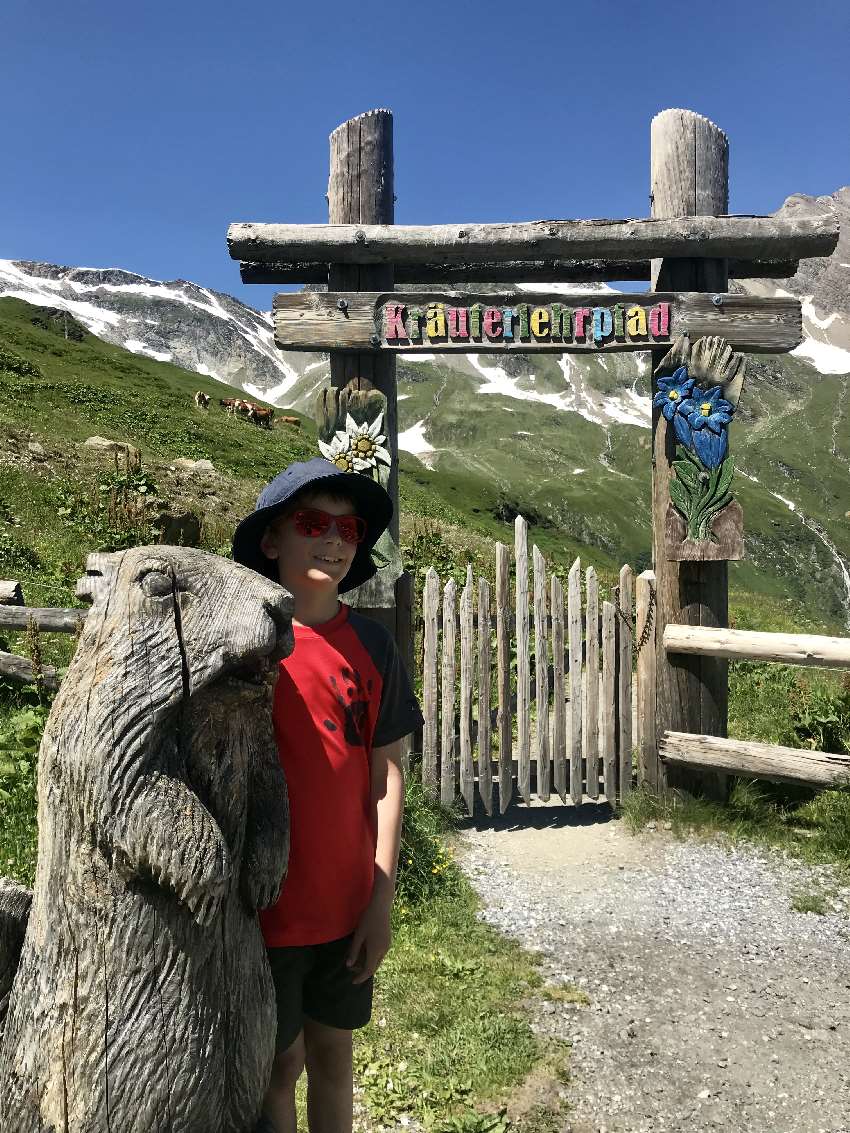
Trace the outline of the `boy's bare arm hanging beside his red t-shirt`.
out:
<instances>
[{"instance_id":1,"label":"boy's bare arm hanging beside his red t-shirt","mask_svg":"<svg viewBox=\"0 0 850 1133\"><path fill-rule=\"evenodd\" d=\"M390 919L405 810L400 740L372 749L371 780L372 816L377 830L375 880L372 900L355 929L348 954L348 966L356 968L355 983L374 976L390 948Z\"/></svg>"}]
</instances>

